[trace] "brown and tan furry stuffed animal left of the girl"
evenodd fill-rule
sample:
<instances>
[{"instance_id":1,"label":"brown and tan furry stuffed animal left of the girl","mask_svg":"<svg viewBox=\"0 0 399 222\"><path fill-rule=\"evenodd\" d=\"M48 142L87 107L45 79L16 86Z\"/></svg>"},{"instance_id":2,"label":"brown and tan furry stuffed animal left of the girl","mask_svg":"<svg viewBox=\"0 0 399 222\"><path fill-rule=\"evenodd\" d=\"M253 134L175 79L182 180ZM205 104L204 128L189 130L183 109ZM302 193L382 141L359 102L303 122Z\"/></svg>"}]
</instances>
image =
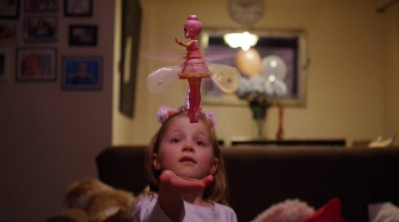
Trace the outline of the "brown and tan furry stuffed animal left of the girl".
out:
<instances>
[{"instance_id":1,"label":"brown and tan furry stuffed animal left of the girl","mask_svg":"<svg viewBox=\"0 0 399 222\"><path fill-rule=\"evenodd\" d=\"M86 179L68 187L64 205L84 210L90 222L104 222L110 218L128 221L134 200L133 194L127 191L115 189L96 179Z\"/></svg>"}]
</instances>

